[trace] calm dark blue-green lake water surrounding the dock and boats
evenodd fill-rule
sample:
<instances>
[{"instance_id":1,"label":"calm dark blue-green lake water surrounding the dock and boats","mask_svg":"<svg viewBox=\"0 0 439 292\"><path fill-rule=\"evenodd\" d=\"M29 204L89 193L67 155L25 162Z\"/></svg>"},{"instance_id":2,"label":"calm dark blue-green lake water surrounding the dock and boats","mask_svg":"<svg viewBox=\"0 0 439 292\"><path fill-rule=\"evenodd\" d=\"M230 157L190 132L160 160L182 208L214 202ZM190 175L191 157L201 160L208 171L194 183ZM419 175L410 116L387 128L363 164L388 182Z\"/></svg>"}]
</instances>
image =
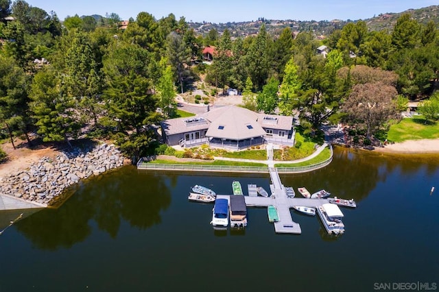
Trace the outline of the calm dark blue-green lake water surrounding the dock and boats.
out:
<instances>
[{"instance_id":1,"label":"calm dark blue-green lake water surrounding the dock and boats","mask_svg":"<svg viewBox=\"0 0 439 292\"><path fill-rule=\"evenodd\" d=\"M189 187L231 193L239 180L247 194L250 183L269 190L268 173L123 167L0 235L0 291L374 291L439 282L439 156L336 148L328 167L281 179L355 199L356 209L342 208L346 232L329 236L318 215L292 210L302 234L275 234L265 208L248 208L245 232L214 232L213 205L188 202Z\"/></svg>"}]
</instances>

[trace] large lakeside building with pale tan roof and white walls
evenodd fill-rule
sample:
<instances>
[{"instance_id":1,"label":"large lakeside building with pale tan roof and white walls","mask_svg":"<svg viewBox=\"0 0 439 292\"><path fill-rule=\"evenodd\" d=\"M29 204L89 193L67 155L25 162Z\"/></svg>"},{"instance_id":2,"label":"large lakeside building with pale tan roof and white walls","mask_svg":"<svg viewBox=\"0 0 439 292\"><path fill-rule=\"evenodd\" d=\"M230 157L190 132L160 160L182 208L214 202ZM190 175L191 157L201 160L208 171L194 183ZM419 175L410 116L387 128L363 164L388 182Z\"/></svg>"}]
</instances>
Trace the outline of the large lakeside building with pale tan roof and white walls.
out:
<instances>
[{"instance_id":1,"label":"large lakeside building with pale tan roof and white walls","mask_svg":"<svg viewBox=\"0 0 439 292\"><path fill-rule=\"evenodd\" d=\"M224 106L195 117L161 122L163 141L169 146L208 144L246 149L264 143L294 145L293 117L260 114L237 106Z\"/></svg>"}]
</instances>

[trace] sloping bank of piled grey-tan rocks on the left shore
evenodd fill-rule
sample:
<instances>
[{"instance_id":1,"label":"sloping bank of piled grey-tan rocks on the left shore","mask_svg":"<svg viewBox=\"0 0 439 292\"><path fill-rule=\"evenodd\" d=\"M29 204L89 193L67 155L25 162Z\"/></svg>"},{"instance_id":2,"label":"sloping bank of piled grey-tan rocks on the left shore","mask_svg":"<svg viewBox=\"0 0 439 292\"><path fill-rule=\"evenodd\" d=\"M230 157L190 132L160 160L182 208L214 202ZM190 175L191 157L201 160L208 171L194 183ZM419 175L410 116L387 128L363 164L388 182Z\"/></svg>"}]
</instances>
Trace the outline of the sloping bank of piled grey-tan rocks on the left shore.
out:
<instances>
[{"instance_id":1,"label":"sloping bank of piled grey-tan rocks on the left shore","mask_svg":"<svg viewBox=\"0 0 439 292\"><path fill-rule=\"evenodd\" d=\"M0 193L30 202L50 204L64 188L91 175L99 175L123 165L123 155L115 145L62 152L54 160L43 157L29 170L0 179Z\"/></svg>"}]
</instances>

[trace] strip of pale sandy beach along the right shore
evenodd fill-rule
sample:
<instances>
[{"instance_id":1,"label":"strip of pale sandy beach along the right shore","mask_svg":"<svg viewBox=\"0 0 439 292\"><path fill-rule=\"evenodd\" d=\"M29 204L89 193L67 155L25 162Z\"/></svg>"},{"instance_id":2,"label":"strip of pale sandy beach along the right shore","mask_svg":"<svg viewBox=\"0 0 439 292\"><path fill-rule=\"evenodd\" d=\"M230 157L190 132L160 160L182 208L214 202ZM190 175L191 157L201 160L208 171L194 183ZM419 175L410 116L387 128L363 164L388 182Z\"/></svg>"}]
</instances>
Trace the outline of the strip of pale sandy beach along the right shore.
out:
<instances>
[{"instance_id":1,"label":"strip of pale sandy beach along the right shore","mask_svg":"<svg viewBox=\"0 0 439 292\"><path fill-rule=\"evenodd\" d=\"M377 147L374 151L394 154L439 154L439 139L410 140Z\"/></svg>"}]
</instances>

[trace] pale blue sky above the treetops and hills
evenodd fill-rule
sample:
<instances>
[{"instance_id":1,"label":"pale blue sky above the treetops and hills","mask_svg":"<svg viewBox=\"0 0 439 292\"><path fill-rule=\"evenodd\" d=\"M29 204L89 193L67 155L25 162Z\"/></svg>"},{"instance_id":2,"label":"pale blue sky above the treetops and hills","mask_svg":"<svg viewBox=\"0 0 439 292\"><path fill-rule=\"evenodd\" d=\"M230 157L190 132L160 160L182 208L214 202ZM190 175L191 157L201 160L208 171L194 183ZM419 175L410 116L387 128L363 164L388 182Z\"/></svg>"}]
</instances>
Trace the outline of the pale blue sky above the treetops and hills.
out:
<instances>
[{"instance_id":1,"label":"pale blue sky above the treetops and hills","mask_svg":"<svg viewBox=\"0 0 439 292\"><path fill-rule=\"evenodd\" d=\"M321 21L332 19L368 19L386 12L438 5L438 0L29 0L32 6L54 11L61 20L68 15L115 12L121 19L136 18L145 11L161 19L173 13L187 21L226 23L265 19Z\"/></svg>"}]
</instances>

